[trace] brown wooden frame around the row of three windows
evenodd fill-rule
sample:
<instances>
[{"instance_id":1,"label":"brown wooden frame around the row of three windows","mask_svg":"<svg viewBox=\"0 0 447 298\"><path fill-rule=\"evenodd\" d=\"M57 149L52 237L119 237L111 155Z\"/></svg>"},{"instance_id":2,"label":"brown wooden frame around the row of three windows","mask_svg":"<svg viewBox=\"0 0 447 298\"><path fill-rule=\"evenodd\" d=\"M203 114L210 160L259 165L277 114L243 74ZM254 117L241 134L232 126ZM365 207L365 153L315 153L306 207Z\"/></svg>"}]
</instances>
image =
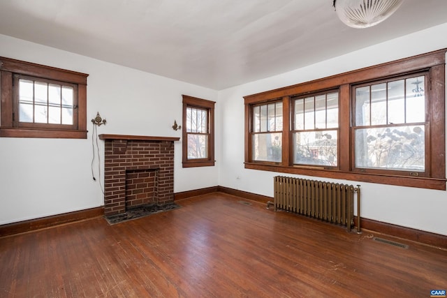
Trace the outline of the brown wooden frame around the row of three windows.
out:
<instances>
[{"instance_id":1,"label":"brown wooden frame around the row of three windows","mask_svg":"<svg viewBox=\"0 0 447 298\"><path fill-rule=\"evenodd\" d=\"M325 177L330 179L346 179L351 181L365 181L377 184L408 186L446 190L446 122L445 122L445 84L446 84L446 51L447 49L420 54L414 57L391 61L377 66L361 68L348 73L324 77L322 79L295 84L289 87L265 91L259 94L244 96L245 105L245 149L244 167L251 170L266 170L289 174ZM431 103L429 114L430 124L430 152L427 177L412 177L403 174L388 174L377 172L356 172L352 163L353 136L351 128L352 96L351 88L354 84L381 80L386 77L407 75L410 73L430 72L430 90L427 93ZM293 166L291 154L291 97L302 94L339 89L339 168L322 169L316 167ZM250 107L257 103L270 100L283 100L284 135L282 161L275 165L252 161L250 151ZM288 118L288 119L286 119ZM343 144L349 144L344 146Z\"/></svg>"}]
</instances>

